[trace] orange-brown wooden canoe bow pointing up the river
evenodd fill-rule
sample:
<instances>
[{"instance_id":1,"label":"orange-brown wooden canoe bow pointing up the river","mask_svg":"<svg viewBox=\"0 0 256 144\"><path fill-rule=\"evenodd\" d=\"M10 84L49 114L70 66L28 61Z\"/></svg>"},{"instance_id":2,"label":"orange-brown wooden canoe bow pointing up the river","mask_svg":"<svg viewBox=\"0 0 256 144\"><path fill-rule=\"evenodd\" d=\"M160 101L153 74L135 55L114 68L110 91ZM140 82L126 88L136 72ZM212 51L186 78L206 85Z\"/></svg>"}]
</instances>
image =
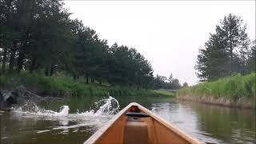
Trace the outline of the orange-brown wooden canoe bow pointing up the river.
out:
<instances>
[{"instance_id":1,"label":"orange-brown wooden canoe bow pointing up the river","mask_svg":"<svg viewBox=\"0 0 256 144\"><path fill-rule=\"evenodd\" d=\"M84 144L203 143L132 102Z\"/></svg>"}]
</instances>

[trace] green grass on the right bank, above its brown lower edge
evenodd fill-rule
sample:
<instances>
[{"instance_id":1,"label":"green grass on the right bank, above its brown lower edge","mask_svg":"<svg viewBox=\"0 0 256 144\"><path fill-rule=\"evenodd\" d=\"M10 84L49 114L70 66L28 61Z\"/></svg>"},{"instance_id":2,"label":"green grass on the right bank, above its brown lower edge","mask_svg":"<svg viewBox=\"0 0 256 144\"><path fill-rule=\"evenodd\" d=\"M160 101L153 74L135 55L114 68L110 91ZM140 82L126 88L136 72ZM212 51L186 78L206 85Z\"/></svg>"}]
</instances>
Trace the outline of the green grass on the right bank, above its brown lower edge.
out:
<instances>
[{"instance_id":1,"label":"green grass on the right bank, above its brown lower edge","mask_svg":"<svg viewBox=\"0 0 256 144\"><path fill-rule=\"evenodd\" d=\"M242 99L256 100L256 73L234 74L233 76L220 78L214 82L202 82L196 86L189 86L178 91L179 96L189 95L192 98L212 97L226 98L231 102Z\"/></svg>"}]
</instances>

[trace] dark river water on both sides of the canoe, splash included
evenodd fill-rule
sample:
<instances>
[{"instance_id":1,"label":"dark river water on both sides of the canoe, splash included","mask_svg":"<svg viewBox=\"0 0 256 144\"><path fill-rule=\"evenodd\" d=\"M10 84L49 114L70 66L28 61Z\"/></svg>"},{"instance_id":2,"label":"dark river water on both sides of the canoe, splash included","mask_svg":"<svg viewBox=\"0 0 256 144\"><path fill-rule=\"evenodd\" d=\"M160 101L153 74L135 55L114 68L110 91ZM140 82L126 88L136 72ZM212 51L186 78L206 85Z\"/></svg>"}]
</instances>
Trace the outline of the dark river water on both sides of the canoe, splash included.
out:
<instances>
[{"instance_id":1,"label":"dark river water on both sides of the canoe, splash included","mask_svg":"<svg viewBox=\"0 0 256 144\"><path fill-rule=\"evenodd\" d=\"M44 104L44 108L26 103L11 112L0 112L0 143L82 143L130 102L138 102L203 142L256 143L255 110L178 102L174 98L100 99L91 98L88 105L92 106L84 108L73 102L58 111L50 108L52 103Z\"/></svg>"}]
</instances>

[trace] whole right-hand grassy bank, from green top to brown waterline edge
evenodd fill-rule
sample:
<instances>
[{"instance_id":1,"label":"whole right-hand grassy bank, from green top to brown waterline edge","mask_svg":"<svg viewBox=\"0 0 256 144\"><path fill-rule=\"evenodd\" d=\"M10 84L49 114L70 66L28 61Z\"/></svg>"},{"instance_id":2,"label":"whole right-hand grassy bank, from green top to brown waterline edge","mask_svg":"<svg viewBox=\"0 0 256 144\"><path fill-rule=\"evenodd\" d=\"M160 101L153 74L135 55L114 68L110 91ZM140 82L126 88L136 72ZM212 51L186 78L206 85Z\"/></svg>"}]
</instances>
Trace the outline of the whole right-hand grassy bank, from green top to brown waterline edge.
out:
<instances>
[{"instance_id":1,"label":"whole right-hand grassy bank, from green top to brown waterline edge","mask_svg":"<svg viewBox=\"0 0 256 144\"><path fill-rule=\"evenodd\" d=\"M220 78L178 91L178 98L223 106L255 108L256 73Z\"/></svg>"}]
</instances>

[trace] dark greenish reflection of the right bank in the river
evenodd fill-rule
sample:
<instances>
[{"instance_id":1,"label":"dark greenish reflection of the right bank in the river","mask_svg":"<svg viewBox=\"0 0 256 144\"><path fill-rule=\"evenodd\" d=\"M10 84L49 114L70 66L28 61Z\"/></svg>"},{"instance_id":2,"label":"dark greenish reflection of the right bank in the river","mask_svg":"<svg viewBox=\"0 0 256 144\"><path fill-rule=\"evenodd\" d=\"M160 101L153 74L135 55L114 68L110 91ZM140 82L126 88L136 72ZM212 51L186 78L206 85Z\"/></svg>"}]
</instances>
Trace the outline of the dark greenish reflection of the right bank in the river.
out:
<instances>
[{"instance_id":1,"label":"dark greenish reflection of the right bank in the river","mask_svg":"<svg viewBox=\"0 0 256 144\"><path fill-rule=\"evenodd\" d=\"M182 102L190 106L201 124L198 130L225 143L255 143L255 111Z\"/></svg>"}]
</instances>

